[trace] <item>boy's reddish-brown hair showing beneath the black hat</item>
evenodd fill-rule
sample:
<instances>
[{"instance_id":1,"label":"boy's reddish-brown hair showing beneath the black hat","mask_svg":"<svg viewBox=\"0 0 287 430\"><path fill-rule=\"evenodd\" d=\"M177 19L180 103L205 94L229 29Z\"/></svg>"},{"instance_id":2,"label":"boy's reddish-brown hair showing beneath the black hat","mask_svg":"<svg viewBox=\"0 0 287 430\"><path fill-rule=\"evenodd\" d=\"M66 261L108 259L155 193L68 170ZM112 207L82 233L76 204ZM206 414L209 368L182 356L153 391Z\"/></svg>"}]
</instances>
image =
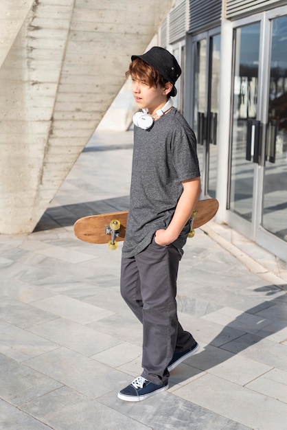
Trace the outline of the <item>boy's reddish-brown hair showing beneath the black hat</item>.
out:
<instances>
[{"instance_id":1,"label":"boy's reddish-brown hair showing beneath the black hat","mask_svg":"<svg viewBox=\"0 0 287 430\"><path fill-rule=\"evenodd\" d=\"M154 67L150 66L141 58L135 58L130 63L128 71L126 71L126 77L136 78L138 80L143 80L150 87L157 87L158 85L162 88L165 87L169 81L159 73Z\"/></svg>"}]
</instances>

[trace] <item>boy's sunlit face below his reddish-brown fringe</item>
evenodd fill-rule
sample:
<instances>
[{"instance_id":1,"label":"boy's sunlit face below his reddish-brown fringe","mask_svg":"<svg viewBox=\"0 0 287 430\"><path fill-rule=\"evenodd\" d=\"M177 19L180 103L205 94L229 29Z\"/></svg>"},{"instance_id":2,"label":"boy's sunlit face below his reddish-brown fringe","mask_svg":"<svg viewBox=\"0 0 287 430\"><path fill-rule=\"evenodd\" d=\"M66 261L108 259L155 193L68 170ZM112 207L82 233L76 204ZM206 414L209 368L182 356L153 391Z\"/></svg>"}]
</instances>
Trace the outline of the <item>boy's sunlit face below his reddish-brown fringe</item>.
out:
<instances>
[{"instance_id":1,"label":"boy's sunlit face below his reddish-brown fringe","mask_svg":"<svg viewBox=\"0 0 287 430\"><path fill-rule=\"evenodd\" d=\"M144 80L139 80L135 76L131 76L131 78L133 96L139 109L148 109L150 115L153 115L164 106L168 100L168 93L172 90L170 82L164 88L159 85L150 87Z\"/></svg>"}]
</instances>

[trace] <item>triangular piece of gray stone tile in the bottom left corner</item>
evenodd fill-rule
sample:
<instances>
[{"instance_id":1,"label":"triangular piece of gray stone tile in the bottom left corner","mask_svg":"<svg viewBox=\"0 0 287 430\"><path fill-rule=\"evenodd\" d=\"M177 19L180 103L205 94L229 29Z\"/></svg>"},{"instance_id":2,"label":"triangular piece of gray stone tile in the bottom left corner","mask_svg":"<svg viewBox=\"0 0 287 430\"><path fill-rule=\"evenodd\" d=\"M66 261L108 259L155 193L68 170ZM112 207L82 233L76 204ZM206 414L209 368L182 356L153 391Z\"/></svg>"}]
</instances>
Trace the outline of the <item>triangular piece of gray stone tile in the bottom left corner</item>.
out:
<instances>
[{"instance_id":1,"label":"triangular piece of gray stone tile in the bottom left corner","mask_svg":"<svg viewBox=\"0 0 287 430\"><path fill-rule=\"evenodd\" d=\"M0 399L0 429L5 430L48 430L51 427L19 411Z\"/></svg>"}]
</instances>

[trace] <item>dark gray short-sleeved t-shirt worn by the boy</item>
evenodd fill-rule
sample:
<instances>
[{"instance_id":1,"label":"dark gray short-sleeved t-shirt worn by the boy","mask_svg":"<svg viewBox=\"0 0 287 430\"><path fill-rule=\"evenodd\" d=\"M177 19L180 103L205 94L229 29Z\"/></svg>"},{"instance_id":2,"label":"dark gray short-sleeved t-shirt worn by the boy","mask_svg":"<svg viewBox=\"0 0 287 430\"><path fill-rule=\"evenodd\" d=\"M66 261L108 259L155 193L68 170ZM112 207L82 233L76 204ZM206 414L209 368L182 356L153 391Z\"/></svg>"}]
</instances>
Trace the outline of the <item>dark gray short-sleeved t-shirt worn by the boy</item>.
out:
<instances>
[{"instance_id":1,"label":"dark gray short-sleeved t-shirt worn by the boy","mask_svg":"<svg viewBox=\"0 0 287 430\"><path fill-rule=\"evenodd\" d=\"M182 181L200 176L196 138L174 107L152 128L135 126L130 210L122 256L143 251L158 229L166 229L183 192ZM185 244L188 227L173 243Z\"/></svg>"}]
</instances>

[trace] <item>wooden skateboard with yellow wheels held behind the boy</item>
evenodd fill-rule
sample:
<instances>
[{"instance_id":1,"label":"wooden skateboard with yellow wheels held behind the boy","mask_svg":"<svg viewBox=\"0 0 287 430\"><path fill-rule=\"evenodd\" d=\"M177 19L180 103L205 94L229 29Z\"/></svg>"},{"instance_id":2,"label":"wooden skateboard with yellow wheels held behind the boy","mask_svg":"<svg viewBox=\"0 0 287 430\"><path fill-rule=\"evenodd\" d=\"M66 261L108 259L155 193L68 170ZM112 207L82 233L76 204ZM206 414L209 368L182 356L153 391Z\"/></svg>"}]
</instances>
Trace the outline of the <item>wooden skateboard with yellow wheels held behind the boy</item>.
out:
<instances>
[{"instance_id":1,"label":"wooden skateboard with yellow wheels held behind the boy","mask_svg":"<svg viewBox=\"0 0 287 430\"><path fill-rule=\"evenodd\" d=\"M194 236L194 229L208 223L218 210L216 199L200 200L196 204L195 210L190 217L190 238ZM107 243L110 249L117 249L117 242L124 240L126 234L126 220L128 211L111 212L110 214L100 214L84 216L73 225L75 236L89 243Z\"/></svg>"}]
</instances>

